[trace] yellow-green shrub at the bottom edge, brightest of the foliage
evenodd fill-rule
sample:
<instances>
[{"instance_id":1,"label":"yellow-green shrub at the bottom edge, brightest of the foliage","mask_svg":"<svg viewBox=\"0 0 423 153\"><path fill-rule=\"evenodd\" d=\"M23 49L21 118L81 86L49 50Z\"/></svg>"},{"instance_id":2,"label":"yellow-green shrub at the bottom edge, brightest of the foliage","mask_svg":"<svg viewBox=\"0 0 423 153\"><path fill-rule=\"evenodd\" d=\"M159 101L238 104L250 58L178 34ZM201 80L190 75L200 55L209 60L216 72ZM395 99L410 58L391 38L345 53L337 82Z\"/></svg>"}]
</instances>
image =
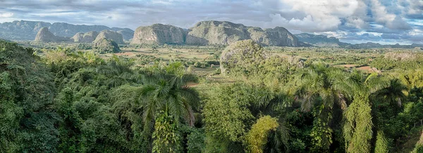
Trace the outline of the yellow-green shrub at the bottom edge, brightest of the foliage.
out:
<instances>
[{"instance_id":1,"label":"yellow-green shrub at the bottom edge, brightest of the foliage","mask_svg":"<svg viewBox=\"0 0 423 153\"><path fill-rule=\"evenodd\" d=\"M279 124L277 118L271 118L271 116L263 116L252 125L250 131L248 131L247 139L249 152L261 153L264 150L264 146L267 143L267 137L271 130L276 130Z\"/></svg>"}]
</instances>

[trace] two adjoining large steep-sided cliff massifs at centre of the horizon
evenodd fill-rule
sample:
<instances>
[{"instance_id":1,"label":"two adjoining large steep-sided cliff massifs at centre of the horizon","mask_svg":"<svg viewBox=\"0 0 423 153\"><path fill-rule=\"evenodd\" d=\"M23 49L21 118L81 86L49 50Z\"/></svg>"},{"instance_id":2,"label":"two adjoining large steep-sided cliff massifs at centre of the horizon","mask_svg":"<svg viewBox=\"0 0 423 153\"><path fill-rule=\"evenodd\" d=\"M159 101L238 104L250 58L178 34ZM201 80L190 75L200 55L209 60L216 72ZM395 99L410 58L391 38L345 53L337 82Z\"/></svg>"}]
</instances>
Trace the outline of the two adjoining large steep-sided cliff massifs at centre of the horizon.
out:
<instances>
[{"instance_id":1,"label":"two adjoining large steep-sided cliff massifs at centre of the horizon","mask_svg":"<svg viewBox=\"0 0 423 153\"><path fill-rule=\"evenodd\" d=\"M299 42L284 27L263 30L260 27L216 20L201 21L188 30L162 24L141 26L135 30L131 44L228 45L244 39L252 39L263 46L308 46Z\"/></svg>"}]
</instances>

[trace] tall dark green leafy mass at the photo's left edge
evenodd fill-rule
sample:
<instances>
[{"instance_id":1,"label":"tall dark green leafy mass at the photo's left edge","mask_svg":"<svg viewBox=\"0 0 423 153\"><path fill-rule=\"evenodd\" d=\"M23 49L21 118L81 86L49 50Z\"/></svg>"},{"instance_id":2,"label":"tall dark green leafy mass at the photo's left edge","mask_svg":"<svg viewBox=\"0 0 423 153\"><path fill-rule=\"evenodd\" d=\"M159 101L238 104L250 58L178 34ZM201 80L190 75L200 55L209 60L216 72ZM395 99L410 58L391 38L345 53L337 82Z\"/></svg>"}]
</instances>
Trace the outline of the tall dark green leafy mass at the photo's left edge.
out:
<instances>
[{"instance_id":1,"label":"tall dark green leafy mass at the photo's left edge","mask_svg":"<svg viewBox=\"0 0 423 153\"><path fill-rule=\"evenodd\" d=\"M0 150L57 152L53 75L33 49L0 41Z\"/></svg>"}]
</instances>

